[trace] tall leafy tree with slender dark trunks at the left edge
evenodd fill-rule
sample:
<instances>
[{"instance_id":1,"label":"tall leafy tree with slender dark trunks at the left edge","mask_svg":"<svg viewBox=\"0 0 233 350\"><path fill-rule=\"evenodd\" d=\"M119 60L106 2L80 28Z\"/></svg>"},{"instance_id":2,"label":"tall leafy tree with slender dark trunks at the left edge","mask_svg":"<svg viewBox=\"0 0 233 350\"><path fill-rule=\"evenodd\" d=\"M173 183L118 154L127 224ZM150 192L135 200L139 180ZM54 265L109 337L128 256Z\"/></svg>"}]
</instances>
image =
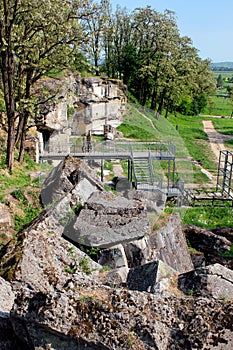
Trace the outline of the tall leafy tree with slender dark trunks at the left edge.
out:
<instances>
[{"instance_id":1,"label":"tall leafy tree with slender dark trunks at the left edge","mask_svg":"<svg viewBox=\"0 0 233 350\"><path fill-rule=\"evenodd\" d=\"M87 3L78 0L3 0L0 4L0 65L8 120L7 165L14 163L17 141L22 160L32 86L56 68L70 65L82 41L78 24Z\"/></svg>"}]
</instances>

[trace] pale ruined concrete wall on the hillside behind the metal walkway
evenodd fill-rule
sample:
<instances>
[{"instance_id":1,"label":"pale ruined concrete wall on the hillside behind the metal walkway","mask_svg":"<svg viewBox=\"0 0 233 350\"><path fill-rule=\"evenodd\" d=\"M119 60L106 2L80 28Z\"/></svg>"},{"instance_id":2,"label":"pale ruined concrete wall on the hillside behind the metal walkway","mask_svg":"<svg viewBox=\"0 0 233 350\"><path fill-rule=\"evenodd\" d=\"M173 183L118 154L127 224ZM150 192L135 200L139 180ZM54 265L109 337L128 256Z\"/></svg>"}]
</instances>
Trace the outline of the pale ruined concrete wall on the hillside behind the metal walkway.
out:
<instances>
[{"instance_id":1,"label":"pale ruined concrete wall on the hillside behind the metal walkway","mask_svg":"<svg viewBox=\"0 0 233 350\"><path fill-rule=\"evenodd\" d=\"M69 75L62 80L46 79L41 82L43 91L56 97L41 105L36 119L42 133L40 149L69 153L70 135L83 135L92 131L104 134L107 123L116 128L125 111L126 88L118 80L101 80ZM43 100L43 98L42 98Z\"/></svg>"}]
</instances>

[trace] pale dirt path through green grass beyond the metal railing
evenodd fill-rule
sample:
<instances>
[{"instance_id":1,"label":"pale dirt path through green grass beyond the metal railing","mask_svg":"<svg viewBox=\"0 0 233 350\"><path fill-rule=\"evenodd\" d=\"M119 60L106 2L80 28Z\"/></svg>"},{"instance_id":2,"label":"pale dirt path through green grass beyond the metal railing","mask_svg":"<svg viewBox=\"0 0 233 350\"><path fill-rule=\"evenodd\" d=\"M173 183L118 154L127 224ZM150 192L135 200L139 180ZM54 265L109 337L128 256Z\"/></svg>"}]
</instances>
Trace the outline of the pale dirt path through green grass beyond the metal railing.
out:
<instances>
[{"instance_id":1,"label":"pale dirt path through green grass beyond the metal railing","mask_svg":"<svg viewBox=\"0 0 233 350\"><path fill-rule=\"evenodd\" d=\"M218 133L211 120L203 120L204 132L207 134L210 147L215 154L216 158L219 159L220 150L225 149L224 142L227 140L231 140L232 136L223 135Z\"/></svg>"}]
</instances>

